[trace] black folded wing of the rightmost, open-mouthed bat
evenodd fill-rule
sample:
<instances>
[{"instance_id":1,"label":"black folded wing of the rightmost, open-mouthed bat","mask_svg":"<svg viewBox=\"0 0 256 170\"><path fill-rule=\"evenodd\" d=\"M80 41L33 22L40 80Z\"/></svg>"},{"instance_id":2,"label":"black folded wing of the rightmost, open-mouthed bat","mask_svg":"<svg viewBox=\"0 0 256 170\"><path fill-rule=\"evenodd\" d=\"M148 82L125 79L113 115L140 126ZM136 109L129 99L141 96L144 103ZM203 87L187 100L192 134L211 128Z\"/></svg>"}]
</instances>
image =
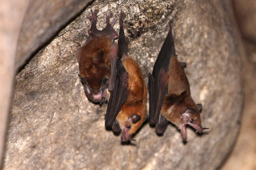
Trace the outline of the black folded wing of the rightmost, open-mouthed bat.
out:
<instances>
[{"instance_id":1,"label":"black folded wing of the rightmost, open-mouthed bat","mask_svg":"<svg viewBox=\"0 0 256 170\"><path fill-rule=\"evenodd\" d=\"M163 106L164 97L168 93L168 71L172 56L175 55L172 26L154 64L153 73L148 74L149 123L156 125Z\"/></svg>"}]
</instances>

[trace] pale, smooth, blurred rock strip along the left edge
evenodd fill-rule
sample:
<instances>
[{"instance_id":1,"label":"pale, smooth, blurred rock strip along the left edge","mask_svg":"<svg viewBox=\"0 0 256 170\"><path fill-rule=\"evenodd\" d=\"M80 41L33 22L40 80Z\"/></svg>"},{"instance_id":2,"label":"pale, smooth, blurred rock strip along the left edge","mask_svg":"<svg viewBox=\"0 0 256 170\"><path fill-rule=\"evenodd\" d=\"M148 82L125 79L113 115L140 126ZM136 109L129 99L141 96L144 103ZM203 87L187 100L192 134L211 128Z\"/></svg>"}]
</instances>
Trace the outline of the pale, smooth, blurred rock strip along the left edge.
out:
<instances>
[{"instance_id":1,"label":"pale, smooth, blurred rock strip along the left edge","mask_svg":"<svg viewBox=\"0 0 256 170\"><path fill-rule=\"evenodd\" d=\"M13 92L15 51L27 4L28 0L0 1L0 166Z\"/></svg>"}]
</instances>

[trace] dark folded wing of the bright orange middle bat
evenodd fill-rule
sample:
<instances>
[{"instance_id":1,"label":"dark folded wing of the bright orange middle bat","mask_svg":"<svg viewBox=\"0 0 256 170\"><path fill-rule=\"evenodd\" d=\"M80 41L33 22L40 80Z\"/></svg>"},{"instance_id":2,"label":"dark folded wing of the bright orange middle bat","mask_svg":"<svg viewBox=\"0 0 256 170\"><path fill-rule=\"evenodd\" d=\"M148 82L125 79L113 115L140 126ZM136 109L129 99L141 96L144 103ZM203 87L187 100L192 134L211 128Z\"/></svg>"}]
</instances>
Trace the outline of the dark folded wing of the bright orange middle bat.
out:
<instances>
[{"instance_id":1,"label":"dark folded wing of the bright orange middle bat","mask_svg":"<svg viewBox=\"0 0 256 170\"><path fill-rule=\"evenodd\" d=\"M110 94L107 113L105 117L105 125L110 128L116 120L116 116L121 110L125 101L127 101L128 94L128 79L129 75L125 70L124 65L120 59L116 60L116 78L115 88Z\"/></svg>"}]
</instances>

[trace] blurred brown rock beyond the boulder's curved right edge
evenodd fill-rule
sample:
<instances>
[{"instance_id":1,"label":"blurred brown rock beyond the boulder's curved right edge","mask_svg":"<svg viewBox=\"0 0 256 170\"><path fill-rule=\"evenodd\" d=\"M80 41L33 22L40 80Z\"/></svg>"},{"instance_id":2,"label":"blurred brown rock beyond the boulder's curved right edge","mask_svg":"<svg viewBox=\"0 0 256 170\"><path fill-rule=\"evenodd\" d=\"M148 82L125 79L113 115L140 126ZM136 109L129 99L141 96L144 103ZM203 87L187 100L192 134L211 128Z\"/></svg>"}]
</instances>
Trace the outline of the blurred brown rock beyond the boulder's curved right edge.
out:
<instances>
[{"instance_id":1,"label":"blurred brown rock beyond the boulder's curved right edge","mask_svg":"<svg viewBox=\"0 0 256 170\"><path fill-rule=\"evenodd\" d=\"M237 24L243 37L244 106L241 129L222 170L256 169L256 1L233 0Z\"/></svg>"}]
</instances>

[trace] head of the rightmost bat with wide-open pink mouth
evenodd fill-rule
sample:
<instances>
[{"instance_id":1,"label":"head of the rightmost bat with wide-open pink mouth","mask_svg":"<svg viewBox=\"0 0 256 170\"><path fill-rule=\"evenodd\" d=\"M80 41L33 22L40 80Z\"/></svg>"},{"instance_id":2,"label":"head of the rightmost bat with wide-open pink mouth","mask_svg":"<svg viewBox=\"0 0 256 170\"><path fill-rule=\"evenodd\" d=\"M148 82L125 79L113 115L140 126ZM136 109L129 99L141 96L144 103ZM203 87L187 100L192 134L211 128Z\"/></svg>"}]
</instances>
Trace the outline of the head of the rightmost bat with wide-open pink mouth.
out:
<instances>
[{"instance_id":1,"label":"head of the rightmost bat with wide-open pink mouth","mask_svg":"<svg viewBox=\"0 0 256 170\"><path fill-rule=\"evenodd\" d=\"M186 108L184 113L182 113L183 123L181 124L180 130L183 141L187 140L186 125L193 127L193 129L199 133L201 133L204 129L209 129L201 126L200 112L202 111L202 104L196 104L196 106L197 107L195 108Z\"/></svg>"}]
</instances>

